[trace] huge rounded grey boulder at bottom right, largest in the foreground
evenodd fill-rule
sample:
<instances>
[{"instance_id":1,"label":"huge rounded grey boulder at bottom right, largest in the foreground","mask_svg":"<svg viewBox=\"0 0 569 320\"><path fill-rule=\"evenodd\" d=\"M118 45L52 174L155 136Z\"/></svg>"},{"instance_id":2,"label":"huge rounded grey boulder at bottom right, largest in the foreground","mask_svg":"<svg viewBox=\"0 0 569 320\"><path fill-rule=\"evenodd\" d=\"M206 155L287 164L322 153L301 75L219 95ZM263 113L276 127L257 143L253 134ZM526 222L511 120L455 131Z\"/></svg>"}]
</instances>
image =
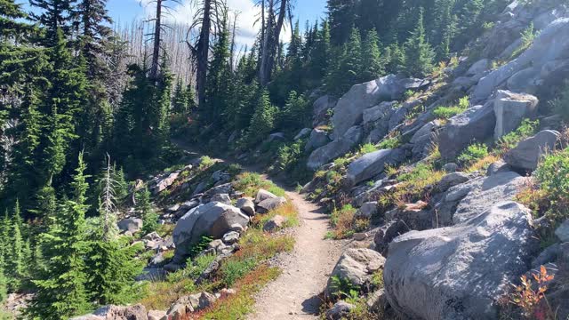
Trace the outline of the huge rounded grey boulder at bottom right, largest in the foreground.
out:
<instances>
[{"instance_id":1,"label":"huge rounded grey boulder at bottom right, largest in the foreground","mask_svg":"<svg viewBox=\"0 0 569 320\"><path fill-rule=\"evenodd\" d=\"M389 245L389 305L413 319L497 319L494 303L529 268L530 211L505 202L450 228L411 231Z\"/></svg>"}]
</instances>

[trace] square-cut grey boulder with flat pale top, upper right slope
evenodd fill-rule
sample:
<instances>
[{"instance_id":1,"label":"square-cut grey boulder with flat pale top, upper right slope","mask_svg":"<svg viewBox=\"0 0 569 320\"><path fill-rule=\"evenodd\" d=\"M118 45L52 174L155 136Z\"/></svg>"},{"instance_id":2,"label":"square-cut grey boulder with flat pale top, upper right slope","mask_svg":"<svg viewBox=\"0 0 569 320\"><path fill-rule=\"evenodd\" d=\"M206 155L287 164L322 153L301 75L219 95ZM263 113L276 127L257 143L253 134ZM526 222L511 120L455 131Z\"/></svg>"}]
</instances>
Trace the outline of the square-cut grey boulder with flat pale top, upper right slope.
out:
<instances>
[{"instance_id":1,"label":"square-cut grey boulder with flat pale top, upper right slope","mask_svg":"<svg viewBox=\"0 0 569 320\"><path fill-rule=\"evenodd\" d=\"M516 130L526 117L535 113L538 102L539 100L530 94L498 91L494 100L496 115L494 139L498 140Z\"/></svg>"}]
</instances>

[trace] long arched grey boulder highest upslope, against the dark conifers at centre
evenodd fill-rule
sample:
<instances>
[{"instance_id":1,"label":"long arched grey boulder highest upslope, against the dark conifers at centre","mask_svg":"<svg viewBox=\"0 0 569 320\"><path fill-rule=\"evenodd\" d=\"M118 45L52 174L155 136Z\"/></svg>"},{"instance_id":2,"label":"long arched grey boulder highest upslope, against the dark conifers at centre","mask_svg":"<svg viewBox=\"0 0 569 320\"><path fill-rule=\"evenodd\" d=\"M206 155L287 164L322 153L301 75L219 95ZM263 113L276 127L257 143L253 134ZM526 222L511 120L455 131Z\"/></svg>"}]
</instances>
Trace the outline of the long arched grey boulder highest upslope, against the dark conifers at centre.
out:
<instances>
[{"instance_id":1,"label":"long arched grey boulder highest upslope, against the dark conifers at centre","mask_svg":"<svg viewBox=\"0 0 569 320\"><path fill-rule=\"evenodd\" d=\"M361 123L366 108L385 100L400 100L407 90L418 89L425 84L427 83L423 80L389 75L365 84L354 85L334 108L333 139L341 138L350 127Z\"/></svg>"}]
</instances>

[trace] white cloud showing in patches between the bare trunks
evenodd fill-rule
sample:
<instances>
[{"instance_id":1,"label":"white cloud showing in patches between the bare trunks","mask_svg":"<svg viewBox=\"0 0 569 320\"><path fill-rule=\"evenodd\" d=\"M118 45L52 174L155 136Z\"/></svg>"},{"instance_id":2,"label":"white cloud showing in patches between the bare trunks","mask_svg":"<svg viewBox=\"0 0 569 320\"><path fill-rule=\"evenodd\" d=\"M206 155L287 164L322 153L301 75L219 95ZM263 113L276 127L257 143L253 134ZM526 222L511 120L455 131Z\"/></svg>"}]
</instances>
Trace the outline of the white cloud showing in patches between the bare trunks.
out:
<instances>
[{"instance_id":1,"label":"white cloud showing in patches between the bare trunks","mask_svg":"<svg viewBox=\"0 0 569 320\"><path fill-rule=\"evenodd\" d=\"M151 0L139 1L145 8L145 14L148 17L154 14L153 5L150 2ZM170 2L172 5L171 17L166 19L176 23L191 25L194 13L197 10L196 1L181 0L180 2L181 4ZM255 6L252 0L227 0L227 3L231 12L239 12L236 35L237 44L251 47L260 28L259 24L255 24L255 21L259 20L260 17L260 7ZM230 17L232 16L233 14L230 14ZM288 23L285 22L284 29L281 31L281 41L289 42L291 35L289 28Z\"/></svg>"}]
</instances>

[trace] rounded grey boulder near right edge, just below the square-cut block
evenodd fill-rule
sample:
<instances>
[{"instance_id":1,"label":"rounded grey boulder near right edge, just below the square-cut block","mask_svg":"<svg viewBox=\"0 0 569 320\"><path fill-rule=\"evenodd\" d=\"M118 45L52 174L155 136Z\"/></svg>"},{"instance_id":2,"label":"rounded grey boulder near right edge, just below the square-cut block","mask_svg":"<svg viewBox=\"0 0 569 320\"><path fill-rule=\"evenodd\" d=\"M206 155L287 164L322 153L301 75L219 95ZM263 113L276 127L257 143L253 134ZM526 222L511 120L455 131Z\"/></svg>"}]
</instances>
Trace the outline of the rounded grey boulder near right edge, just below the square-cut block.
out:
<instances>
[{"instance_id":1,"label":"rounded grey boulder near right edge, just below the square-cut block","mask_svg":"<svg viewBox=\"0 0 569 320\"><path fill-rule=\"evenodd\" d=\"M541 156L556 148L559 137L560 134L557 131L539 132L519 142L516 148L509 150L504 160L512 167L533 171L537 168Z\"/></svg>"}]
</instances>

